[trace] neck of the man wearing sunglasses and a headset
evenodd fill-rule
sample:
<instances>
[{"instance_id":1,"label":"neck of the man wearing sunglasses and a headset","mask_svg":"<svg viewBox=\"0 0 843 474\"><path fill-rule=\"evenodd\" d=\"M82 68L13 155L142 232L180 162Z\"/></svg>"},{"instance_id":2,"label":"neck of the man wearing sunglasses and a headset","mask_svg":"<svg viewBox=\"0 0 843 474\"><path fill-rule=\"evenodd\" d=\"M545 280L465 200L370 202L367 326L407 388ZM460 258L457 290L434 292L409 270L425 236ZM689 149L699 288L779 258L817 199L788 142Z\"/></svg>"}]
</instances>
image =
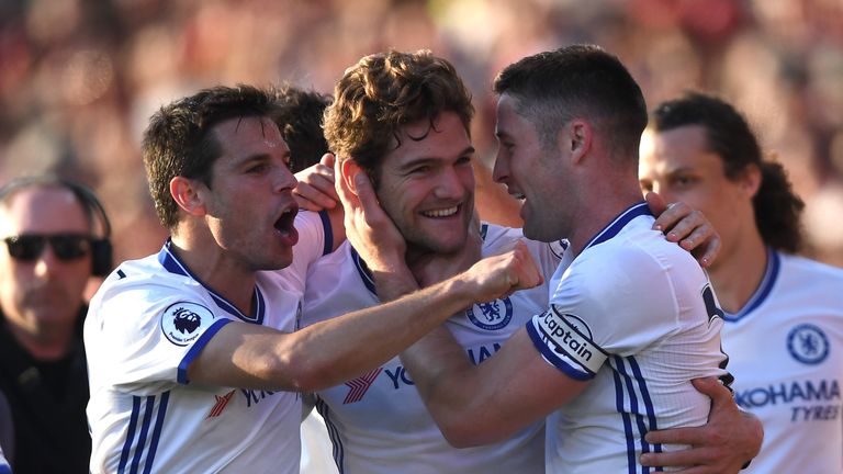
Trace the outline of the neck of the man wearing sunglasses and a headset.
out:
<instances>
[{"instance_id":1,"label":"neck of the man wearing sunglasses and a headset","mask_svg":"<svg viewBox=\"0 0 843 474\"><path fill-rule=\"evenodd\" d=\"M7 315L9 331L26 352L42 361L58 360L70 352L76 329L76 319L50 324L34 323L34 327L24 327L15 318Z\"/></svg>"}]
</instances>

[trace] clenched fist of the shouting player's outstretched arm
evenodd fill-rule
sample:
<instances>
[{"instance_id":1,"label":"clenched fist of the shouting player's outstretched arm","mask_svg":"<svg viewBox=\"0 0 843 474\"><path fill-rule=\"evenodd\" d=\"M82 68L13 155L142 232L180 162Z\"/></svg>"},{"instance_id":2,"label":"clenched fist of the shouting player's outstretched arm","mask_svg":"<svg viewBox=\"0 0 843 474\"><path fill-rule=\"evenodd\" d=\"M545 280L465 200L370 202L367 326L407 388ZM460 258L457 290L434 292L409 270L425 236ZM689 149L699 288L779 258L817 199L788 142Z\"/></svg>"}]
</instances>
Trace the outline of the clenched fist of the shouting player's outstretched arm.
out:
<instances>
[{"instance_id":1,"label":"clenched fist of the shouting player's outstretched arm","mask_svg":"<svg viewBox=\"0 0 843 474\"><path fill-rule=\"evenodd\" d=\"M479 302L502 298L518 290L540 285L544 279L530 251L519 241L513 250L474 263L463 278Z\"/></svg>"}]
</instances>

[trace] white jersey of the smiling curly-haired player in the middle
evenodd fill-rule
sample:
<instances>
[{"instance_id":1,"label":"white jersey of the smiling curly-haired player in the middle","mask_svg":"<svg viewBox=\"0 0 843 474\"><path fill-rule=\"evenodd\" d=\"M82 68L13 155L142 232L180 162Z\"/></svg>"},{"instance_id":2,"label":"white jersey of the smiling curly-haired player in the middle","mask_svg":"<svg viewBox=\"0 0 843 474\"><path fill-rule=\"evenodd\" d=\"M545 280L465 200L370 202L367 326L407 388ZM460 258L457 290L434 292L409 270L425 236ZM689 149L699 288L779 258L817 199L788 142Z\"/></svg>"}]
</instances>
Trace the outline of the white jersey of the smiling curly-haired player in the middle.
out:
<instances>
[{"instance_id":1,"label":"white jersey of the smiling curly-haired player in the middle","mask_svg":"<svg viewBox=\"0 0 843 474\"><path fill-rule=\"evenodd\" d=\"M521 232L483 226L483 257L512 249ZM526 240L537 263L550 276L564 242ZM311 325L379 304L366 263L344 244L311 267L303 321ZM548 286L503 300L475 304L447 326L473 363L492 357L526 321L547 308ZM413 380L395 358L342 385L317 394L316 407L334 442L340 473L542 473L543 427L530 426L512 439L486 447L448 444L425 408Z\"/></svg>"}]
</instances>

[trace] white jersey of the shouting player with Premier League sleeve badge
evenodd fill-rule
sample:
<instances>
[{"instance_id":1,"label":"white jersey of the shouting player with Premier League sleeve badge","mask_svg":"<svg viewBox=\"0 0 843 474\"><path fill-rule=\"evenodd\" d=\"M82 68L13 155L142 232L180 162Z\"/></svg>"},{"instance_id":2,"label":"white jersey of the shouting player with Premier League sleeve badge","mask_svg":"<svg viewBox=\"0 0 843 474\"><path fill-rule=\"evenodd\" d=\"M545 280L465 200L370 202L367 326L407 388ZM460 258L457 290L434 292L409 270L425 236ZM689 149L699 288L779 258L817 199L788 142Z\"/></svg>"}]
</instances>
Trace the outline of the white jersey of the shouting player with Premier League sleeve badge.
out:
<instances>
[{"instance_id":1,"label":"white jersey of the shouting player with Premier League sleeve badge","mask_svg":"<svg viewBox=\"0 0 843 474\"><path fill-rule=\"evenodd\" d=\"M300 213L293 264L257 274L252 314L196 279L169 240L103 282L85 323L92 473L299 472L299 394L203 386L187 369L226 324L295 330L323 223Z\"/></svg>"}]
</instances>

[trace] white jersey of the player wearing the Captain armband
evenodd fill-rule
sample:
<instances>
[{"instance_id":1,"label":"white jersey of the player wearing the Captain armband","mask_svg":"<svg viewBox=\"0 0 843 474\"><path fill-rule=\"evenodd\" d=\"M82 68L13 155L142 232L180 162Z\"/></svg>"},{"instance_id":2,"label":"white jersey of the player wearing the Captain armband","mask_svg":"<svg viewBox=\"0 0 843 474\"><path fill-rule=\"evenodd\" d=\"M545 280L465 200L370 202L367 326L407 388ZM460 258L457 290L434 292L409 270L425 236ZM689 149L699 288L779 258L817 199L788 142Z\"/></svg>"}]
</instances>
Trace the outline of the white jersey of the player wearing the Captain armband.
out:
<instances>
[{"instance_id":1,"label":"white jersey of the player wearing the Captain armband","mask_svg":"<svg viewBox=\"0 0 843 474\"><path fill-rule=\"evenodd\" d=\"M653 222L634 205L567 252L550 309L527 325L548 362L591 381L547 419L549 473L648 472L641 453L668 449L647 443L648 431L706 424L709 399L690 380L728 380L708 279Z\"/></svg>"}]
</instances>

